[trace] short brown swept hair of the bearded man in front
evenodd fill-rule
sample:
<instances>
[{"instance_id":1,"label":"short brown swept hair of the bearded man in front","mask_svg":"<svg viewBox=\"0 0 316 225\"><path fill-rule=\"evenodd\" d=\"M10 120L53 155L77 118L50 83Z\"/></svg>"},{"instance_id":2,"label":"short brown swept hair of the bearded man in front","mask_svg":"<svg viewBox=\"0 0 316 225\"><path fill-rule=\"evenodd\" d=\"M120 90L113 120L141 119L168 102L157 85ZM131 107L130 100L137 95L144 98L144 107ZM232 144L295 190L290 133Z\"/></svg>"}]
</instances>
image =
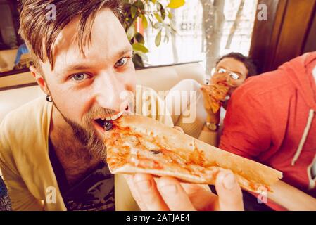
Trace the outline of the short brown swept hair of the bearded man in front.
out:
<instances>
[{"instance_id":1,"label":"short brown swept hair of the bearded man in front","mask_svg":"<svg viewBox=\"0 0 316 225\"><path fill-rule=\"evenodd\" d=\"M49 4L56 6L56 20L48 20ZM49 9L48 9L49 8ZM80 16L77 32L78 46L84 55L84 46L91 41L91 29L96 13L110 8L121 21L120 0L21 0L19 34L32 54L35 66L38 59L46 59L53 69L53 44L58 34L76 16Z\"/></svg>"}]
</instances>

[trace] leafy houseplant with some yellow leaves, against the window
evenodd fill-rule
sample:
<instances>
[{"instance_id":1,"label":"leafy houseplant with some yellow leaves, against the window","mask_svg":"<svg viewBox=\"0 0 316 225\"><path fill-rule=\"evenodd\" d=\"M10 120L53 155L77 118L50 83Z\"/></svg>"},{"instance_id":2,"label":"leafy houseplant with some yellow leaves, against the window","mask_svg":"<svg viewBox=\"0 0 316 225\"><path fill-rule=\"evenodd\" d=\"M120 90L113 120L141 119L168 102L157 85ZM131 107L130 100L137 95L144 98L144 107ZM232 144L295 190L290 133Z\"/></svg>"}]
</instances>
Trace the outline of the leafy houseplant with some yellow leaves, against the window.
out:
<instances>
[{"instance_id":1,"label":"leafy houseplant with some yellow leaves, against the window","mask_svg":"<svg viewBox=\"0 0 316 225\"><path fill-rule=\"evenodd\" d=\"M158 30L155 43L159 46L162 38L168 41L170 34L176 32L171 10L183 6L184 3L185 0L123 0L122 24L133 46L135 67L144 67L144 60L148 60L146 53L149 51L143 35L137 32L137 21L144 30L149 27Z\"/></svg>"}]
</instances>

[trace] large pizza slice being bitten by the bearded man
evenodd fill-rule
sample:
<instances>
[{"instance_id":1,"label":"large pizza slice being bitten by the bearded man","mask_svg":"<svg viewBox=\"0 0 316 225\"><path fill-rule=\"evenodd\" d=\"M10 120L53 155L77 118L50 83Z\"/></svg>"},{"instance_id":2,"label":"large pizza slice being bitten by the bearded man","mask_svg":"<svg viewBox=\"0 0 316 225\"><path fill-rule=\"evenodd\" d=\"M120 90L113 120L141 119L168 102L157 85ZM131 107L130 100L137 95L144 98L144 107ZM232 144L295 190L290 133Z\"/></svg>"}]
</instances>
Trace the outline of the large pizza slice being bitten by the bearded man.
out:
<instances>
[{"instance_id":1,"label":"large pizza slice being bitten by the bearded man","mask_svg":"<svg viewBox=\"0 0 316 225\"><path fill-rule=\"evenodd\" d=\"M282 178L282 173L241 158L148 117L128 115L105 131L107 162L113 174L147 173L173 176L196 184L215 184L218 172L230 169L241 187L258 192Z\"/></svg>"}]
</instances>

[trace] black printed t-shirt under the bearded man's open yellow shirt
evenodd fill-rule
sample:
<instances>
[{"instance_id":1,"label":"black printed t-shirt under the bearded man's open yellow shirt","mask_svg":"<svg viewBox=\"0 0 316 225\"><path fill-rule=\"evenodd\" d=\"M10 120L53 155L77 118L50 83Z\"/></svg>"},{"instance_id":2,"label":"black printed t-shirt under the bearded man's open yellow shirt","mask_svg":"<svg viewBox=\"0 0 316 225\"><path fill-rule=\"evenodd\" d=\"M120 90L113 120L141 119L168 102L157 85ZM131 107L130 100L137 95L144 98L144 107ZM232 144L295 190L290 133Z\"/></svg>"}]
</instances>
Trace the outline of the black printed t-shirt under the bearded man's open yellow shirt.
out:
<instances>
[{"instance_id":1,"label":"black printed t-shirt under the bearded man's open yellow shirt","mask_svg":"<svg viewBox=\"0 0 316 225\"><path fill-rule=\"evenodd\" d=\"M113 211L114 175L110 174L108 165L101 162L88 176L70 186L65 172L59 162L51 140L49 139L49 159L53 166L61 195L69 211Z\"/></svg>"}]
</instances>

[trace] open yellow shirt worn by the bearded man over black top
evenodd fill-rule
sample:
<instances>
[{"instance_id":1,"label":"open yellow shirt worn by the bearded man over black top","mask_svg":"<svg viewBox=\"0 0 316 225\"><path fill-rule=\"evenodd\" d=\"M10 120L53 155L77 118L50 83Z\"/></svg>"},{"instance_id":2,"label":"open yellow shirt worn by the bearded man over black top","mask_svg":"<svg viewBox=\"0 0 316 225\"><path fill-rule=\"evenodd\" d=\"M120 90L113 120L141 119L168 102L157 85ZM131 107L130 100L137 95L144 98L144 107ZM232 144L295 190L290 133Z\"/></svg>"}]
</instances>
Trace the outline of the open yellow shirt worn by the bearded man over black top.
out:
<instances>
[{"instance_id":1,"label":"open yellow shirt worn by the bearded man over black top","mask_svg":"<svg viewBox=\"0 0 316 225\"><path fill-rule=\"evenodd\" d=\"M52 108L45 98L37 98L13 110L0 124L0 169L13 210L67 210L49 160ZM173 127L171 117L161 115L163 110L155 91L137 86L137 114L146 112ZM138 210L122 175L115 175L114 185L115 210Z\"/></svg>"}]
</instances>

